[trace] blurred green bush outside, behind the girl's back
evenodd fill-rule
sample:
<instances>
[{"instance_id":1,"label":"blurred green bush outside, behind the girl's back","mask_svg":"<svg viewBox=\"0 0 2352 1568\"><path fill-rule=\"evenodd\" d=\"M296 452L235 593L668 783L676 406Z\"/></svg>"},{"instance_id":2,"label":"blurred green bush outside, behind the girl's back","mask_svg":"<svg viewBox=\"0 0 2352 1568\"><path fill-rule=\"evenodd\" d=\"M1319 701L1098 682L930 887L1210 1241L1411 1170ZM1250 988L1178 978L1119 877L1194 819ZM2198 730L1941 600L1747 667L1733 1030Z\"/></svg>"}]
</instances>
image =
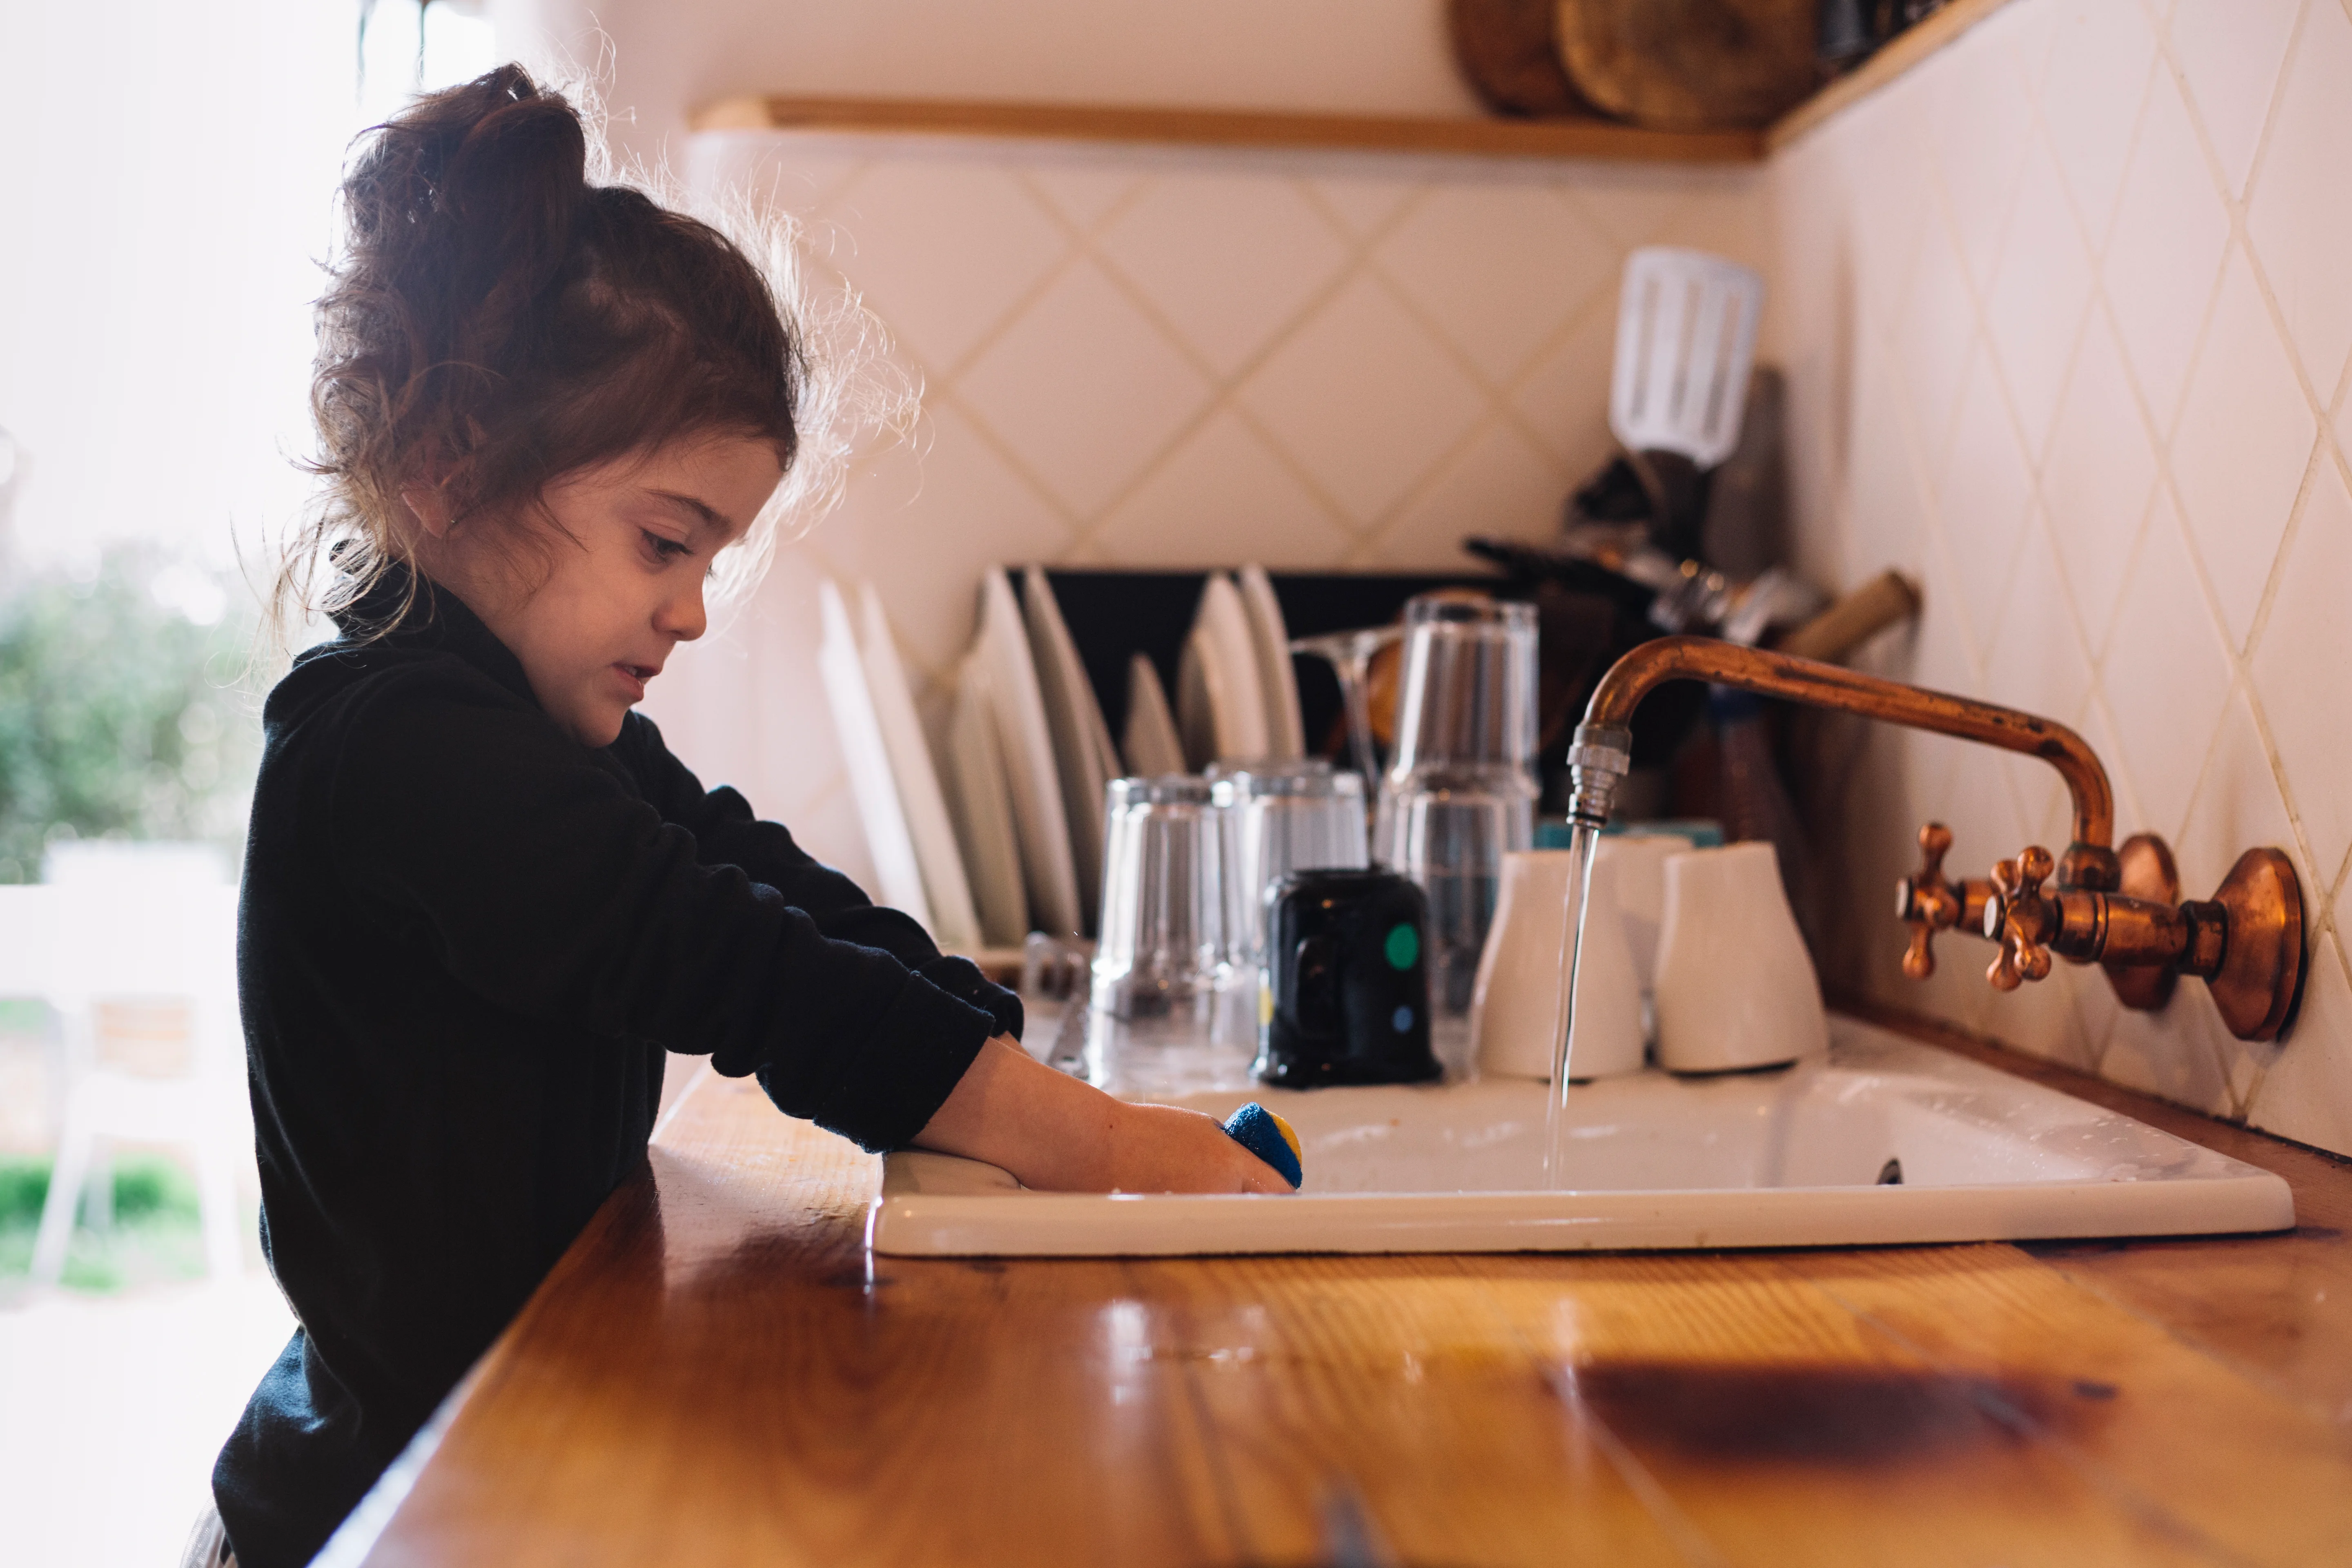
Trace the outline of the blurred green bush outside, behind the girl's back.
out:
<instances>
[{"instance_id":1,"label":"blurred green bush outside, behind the girl's back","mask_svg":"<svg viewBox=\"0 0 2352 1568\"><path fill-rule=\"evenodd\" d=\"M75 837L209 842L235 865L261 750L245 602L153 545L0 585L0 882L40 882Z\"/></svg>"}]
</instances>

